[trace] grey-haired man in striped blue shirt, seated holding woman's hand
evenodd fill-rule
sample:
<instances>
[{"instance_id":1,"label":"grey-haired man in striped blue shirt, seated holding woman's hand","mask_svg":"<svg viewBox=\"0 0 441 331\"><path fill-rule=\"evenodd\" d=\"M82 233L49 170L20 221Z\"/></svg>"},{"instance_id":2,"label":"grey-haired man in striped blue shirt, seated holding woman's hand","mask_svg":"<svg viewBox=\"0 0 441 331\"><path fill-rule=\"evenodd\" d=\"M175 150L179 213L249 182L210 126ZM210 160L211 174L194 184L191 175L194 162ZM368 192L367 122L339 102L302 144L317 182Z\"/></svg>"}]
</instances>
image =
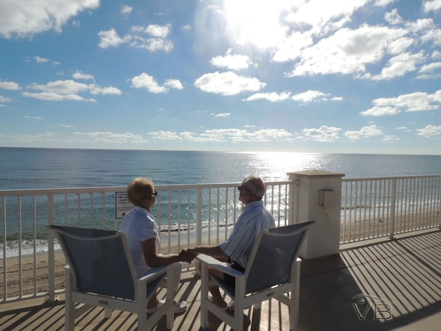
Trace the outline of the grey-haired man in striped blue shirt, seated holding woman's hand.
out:
<instances>
[{"instance_id":1,"label":"grey-haired man in striped blue shirt, seated holding woman's hand","mask_svg":"<svg viewBox=\"0 0 441 331\"><path fill-rule=\"evenodd\" d=\"M238 218L234 230L229 239L217 246L200 246L189 249L193 254L207 254L220 261L231 263L232 267L245 271L254 241L258 233L262 230L274 228L274 218L263 205L265 195L265 183L260 177L248 176L241 185L238 186L239 201L244 203L242 214ZM218 270L209 270L210 274L227 283L234 284L234 277L224 274ZM213 296L213 302L222 309L234 310L234 301L225 302L220 294L218 286L209 288Z\"/></svg>"}]
</instances>

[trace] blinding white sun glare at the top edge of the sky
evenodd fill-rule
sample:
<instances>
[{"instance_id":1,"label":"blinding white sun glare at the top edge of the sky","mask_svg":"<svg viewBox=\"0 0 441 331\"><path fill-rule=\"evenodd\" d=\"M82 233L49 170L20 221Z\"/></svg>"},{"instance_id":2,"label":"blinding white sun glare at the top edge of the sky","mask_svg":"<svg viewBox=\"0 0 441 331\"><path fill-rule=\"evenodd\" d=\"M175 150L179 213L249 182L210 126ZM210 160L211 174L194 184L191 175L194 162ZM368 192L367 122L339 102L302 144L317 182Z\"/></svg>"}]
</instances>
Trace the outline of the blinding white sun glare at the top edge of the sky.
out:
<instances>
[{"instance_id":1,"label":"blinding white sun glare at the top edge of the sky","mask_svg":"<svg viewBox=\"0 0 441 331\"><path fill-rule=\"evenodd\" d=\"M280 14L285 1L225 0L225 17L229 30L240 44L274 47L280 43L285 28L280 26Z\"/></svg>"}]
</instances>

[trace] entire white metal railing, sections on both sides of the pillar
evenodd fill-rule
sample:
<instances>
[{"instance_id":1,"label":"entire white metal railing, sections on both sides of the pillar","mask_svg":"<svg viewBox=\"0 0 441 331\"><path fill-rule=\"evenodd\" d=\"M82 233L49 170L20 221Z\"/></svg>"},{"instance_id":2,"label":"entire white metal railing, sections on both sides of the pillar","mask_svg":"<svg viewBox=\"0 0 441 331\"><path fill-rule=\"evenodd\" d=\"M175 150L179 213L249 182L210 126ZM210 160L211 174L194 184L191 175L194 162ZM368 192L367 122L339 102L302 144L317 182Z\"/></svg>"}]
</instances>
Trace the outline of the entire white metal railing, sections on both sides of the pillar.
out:
<instances>
[{"instance_id":1,"label":"entire white metal railing, sections on both sides of the pillar","mask_svg":"<svg viewBox=\"0 0 441 331\"><path fill-rule=\"evenodd\" d=\"M298 223L299 181L267 184L265 205L276 225ZM225 241L240 214L238 183L158 185L153 214L161 252ZM54 300L59 248L48 224L117 229L116 197L125 187L0 191L0 303L34 297ZM340 243L440 226L441 176L342 179ZM305 206L306 208L306 206ZM320 220L319 220L320 221ZM42 251L42 252L41 252ZM47 265L40 269L39 258ZM23 282L31 265L32 281ZM38 268L37 268L38 265ZM48 285L39 284L42 272ZM12 274L18 274L18 277ZM13 283L9 279L18 279Z\"/></svg>"}]
</instances>

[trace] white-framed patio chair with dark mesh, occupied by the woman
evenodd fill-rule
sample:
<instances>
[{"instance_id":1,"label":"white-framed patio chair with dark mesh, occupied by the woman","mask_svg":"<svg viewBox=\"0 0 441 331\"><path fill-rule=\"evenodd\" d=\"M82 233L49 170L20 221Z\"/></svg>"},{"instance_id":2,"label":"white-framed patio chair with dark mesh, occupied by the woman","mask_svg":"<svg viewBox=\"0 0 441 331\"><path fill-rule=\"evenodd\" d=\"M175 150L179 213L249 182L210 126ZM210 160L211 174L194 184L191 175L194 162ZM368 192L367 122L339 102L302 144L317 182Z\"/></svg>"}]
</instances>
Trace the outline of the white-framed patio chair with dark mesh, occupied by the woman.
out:
<instances>
[{"instance_id":1,"label":"white-framed patio chair with dark mesh, occupied by the woman","mask_svg":"<svg viewBox=\"0 0 441 331\"><path fill-rule=\"evenodd\" d=\"M74 330L74 319L94 306L138 314L138 330L151 330L167 314L167 328L174 324L173 272L168 265L136 277L123 232L50 225L65 254L65 330ZM147 300L167 277L167 300L147 317ZM75 308L75 303L81 303Z\"/></svg>"}]
</instances>

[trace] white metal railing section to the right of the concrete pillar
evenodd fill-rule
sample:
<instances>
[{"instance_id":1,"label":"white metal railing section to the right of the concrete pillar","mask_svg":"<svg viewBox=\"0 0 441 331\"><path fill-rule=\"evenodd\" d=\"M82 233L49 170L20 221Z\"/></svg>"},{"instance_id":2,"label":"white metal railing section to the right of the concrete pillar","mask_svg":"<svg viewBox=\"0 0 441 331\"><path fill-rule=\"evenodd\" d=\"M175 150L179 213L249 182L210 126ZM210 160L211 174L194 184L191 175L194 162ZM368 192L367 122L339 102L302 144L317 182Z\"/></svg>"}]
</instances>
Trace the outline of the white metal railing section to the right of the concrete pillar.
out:
<instances>
[{"instance_id":1,"label":"white metal railing section to the right of the concrete pillar","mask_svg":"<svg viewBox=\"0 0 441 331\"><path fill-rule=\"evenodd\" d=\"M441 176L342 179L340 243L440 226Z\"/></svg>"}]
</instances>

